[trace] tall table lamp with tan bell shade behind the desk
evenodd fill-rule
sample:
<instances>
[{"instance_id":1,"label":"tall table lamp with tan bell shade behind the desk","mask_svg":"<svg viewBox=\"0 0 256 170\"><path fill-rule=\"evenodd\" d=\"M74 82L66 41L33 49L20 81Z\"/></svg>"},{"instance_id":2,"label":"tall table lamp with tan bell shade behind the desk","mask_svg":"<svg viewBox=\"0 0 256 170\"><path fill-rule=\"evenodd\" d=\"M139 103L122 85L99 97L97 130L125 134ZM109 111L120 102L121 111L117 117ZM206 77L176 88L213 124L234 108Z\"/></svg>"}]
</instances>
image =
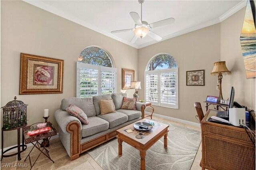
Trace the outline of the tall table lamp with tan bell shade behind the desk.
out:
<instances>
[{"instance_id":1,"label":"tall table lamp with tan bell shade behind the desk","mask_svg":"<svg viewBox=\"0 0 256 170\"><path fill-rule=\"evenodd\" d=\"M218 61L218 62L214 63L214 67L213 67L211 75L218 75L217 89L220 90L218 102L220 102L220 100L223 99L222 89L221 89L222 75L230 75L230 74L231 74L231 72L226 67L226 61Z\"/></svg>"}]
</instances>

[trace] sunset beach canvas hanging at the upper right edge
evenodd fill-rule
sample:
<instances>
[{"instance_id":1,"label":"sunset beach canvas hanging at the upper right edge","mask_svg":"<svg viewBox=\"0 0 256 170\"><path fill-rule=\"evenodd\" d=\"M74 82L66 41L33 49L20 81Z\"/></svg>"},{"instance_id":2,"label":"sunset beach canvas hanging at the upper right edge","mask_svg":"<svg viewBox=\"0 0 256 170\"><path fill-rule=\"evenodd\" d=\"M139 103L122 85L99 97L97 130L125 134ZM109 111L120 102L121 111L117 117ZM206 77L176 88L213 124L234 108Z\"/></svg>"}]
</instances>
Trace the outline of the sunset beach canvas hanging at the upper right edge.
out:
<instances>
[{"instance_id":1,"label":"sunset beach canvas hanging at the upper right edge","mask_svg":"<svg viewBox=\"0 0 256 170\"><path fill-rule=\"evenodd\" d=\"M240 36L247 79L256 77L256 32L255 18L253 18L255 13L252 13L252 9L255 10L255 2L250 3L250 1L247 1L244 24Z\"/></svg>"}]
</instances>

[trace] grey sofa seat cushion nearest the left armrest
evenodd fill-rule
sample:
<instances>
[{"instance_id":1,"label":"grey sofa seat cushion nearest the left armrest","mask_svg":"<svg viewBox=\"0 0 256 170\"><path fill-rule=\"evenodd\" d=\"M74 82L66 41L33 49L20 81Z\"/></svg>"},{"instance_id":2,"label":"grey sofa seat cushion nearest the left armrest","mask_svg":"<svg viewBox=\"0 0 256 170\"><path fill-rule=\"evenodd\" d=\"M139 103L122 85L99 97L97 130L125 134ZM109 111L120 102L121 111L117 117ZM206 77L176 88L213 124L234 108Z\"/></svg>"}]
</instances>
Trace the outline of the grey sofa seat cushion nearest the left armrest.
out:
<instances>
[{"instance_id":1,"label":"grey sofa seat cushion nearest the left armrest","mask_svg":"<svg viewBox=\"0 0 256 170\"><path fill-rule=\"evenodd\" d=\"M82 125L82 137L91 136L98 132L108 130L109 123L99 117L88 117L89 125Z\"/></svg>"}]
</instances>

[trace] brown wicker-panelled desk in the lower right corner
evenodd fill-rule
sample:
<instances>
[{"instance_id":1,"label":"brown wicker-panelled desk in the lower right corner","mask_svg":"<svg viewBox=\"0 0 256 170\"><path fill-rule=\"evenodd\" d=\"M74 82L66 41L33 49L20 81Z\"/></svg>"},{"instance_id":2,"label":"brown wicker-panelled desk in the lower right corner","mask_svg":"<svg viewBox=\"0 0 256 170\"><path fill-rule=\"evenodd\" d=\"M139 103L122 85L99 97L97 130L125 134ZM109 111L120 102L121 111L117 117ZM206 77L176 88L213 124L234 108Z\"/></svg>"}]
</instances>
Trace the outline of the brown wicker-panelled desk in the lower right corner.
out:
<instances>
[{"instance_id":1,"label":"brown wicker-panelled desk in the lower right corner","mask_svg":"<svg viewBox=\"0 0 256 170\"><path fill-rule=\"evenodd\" d=\"M201 122L202 170L255 170L255 147L244 128L207 121L215 115L209 109ZM255 132L255 127L250 128Z\"/></svg>"}]
</instances>

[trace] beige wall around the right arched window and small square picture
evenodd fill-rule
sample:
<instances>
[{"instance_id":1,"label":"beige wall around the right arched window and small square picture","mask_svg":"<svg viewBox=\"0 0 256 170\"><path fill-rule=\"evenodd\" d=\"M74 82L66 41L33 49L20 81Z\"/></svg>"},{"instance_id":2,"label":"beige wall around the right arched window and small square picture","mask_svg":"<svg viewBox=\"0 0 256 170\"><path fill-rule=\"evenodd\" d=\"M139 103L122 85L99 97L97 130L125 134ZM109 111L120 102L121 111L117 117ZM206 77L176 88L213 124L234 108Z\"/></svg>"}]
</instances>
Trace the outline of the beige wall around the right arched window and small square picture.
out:
<instances>
[{"instance_id":1,"label":"beige wall around the right arched window and small square picture","mask_svg":"<svg viewBox=\"0 0 256 170\"><path fill-rule=\"evenodd\" d=\"M155 113L197 122L194 102L202 103L207 95L218 96L217 77L212 77L210 72L213 63L220 59L220 24L139 49L138 77L142 82L140 99L144 98L144 71L147 63L158 53L172 55L178 64L179 109L154 106ZM205 70L205 86L186 86L186 71L201 69ZM202 103L202 106L204 107L205 103Z\"/></svg>"}]
</instances>

